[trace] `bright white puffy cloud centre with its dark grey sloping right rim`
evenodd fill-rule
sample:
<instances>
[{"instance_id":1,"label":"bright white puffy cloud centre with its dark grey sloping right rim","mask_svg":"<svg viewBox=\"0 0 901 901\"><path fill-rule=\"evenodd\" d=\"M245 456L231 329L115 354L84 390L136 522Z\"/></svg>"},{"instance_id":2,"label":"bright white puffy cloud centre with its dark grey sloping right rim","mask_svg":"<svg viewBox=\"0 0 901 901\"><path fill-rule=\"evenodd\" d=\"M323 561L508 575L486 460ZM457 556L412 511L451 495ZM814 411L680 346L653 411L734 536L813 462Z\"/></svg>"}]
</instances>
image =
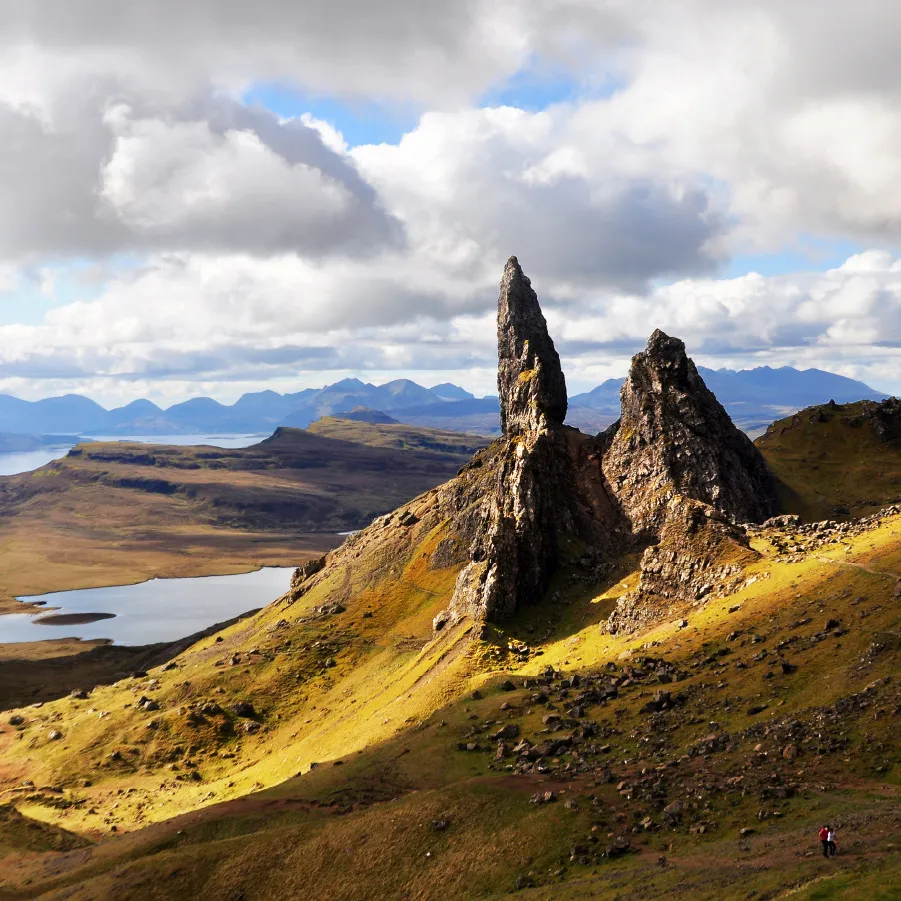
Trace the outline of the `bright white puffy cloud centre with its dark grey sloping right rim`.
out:
<instances>
[{"instance_id":1,"label":"bright white puffy cloud centre with its dark grey sloping right rim","mask_svg":"<svg viewBox=\"0 0 901 901\"><path fill-rule=\"evenodd\" d=\"M114 143L99 215L136 243L307 256L401 243L375 191L314 128L227 103L194 112L105 114Z\"/></svg>"}]
</instances>

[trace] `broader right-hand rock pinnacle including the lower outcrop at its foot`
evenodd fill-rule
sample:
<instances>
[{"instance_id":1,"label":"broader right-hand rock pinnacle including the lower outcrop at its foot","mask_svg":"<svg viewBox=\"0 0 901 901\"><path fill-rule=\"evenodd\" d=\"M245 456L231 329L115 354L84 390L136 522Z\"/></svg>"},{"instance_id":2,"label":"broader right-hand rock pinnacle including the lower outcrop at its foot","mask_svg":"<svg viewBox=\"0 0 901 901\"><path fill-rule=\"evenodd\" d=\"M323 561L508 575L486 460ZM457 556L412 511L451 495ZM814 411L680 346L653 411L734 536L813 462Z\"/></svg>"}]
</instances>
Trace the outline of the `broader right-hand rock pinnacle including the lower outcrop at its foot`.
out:
<instances>
[{"instance_id":1,"label":"broader right-hand rock pinnacle including the lower outcrop at its foot","mask_svg":"<svg viewBox=\"0 0 901 901\"><path fill-rule=\"evenodd\" d=\"M652 543L638 588L608 620L612 632L634 631L674 602L735 588L756 556L739 524L779 509L763 457L678 338L658 329L636 354L622 409L604 436L602 468L636 539Z\"/></svg>"}]
</instances>

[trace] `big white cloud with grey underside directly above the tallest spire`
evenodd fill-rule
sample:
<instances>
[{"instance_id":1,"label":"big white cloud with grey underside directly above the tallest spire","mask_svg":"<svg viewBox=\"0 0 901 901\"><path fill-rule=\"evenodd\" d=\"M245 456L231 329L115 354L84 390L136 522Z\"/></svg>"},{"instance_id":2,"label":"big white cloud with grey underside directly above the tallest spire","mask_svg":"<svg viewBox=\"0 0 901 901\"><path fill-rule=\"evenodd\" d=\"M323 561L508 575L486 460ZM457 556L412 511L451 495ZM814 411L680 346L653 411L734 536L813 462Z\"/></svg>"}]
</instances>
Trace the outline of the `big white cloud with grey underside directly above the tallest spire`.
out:
<instances>
[{"instance_id":1,"label":"big white cloud with grey underside directly above the tallest spire","mask_svg":"<svg viewBox=\"0 0 901 901\"><path fill-rule=\"evenodd\" d=\"M712 269L726 223L701 180L615 139L580 143L578 116L430 113L399 145L353 155L412 244L486 282L514 252L533 274L582 287Z\"/></svg>"}]
</instances>

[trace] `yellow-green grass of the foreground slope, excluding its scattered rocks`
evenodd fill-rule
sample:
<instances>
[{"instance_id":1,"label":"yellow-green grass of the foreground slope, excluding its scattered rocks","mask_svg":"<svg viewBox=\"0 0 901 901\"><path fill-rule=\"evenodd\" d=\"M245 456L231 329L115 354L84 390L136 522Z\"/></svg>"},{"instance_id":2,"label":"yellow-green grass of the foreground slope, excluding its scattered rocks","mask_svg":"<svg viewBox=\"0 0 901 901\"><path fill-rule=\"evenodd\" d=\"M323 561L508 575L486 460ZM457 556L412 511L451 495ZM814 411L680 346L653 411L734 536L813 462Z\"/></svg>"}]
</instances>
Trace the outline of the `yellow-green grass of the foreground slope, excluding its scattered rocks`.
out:
<instances>
[{"instance_id":1,"label":"yellow-green grass of the foreground slope, excluding its scattered rocks","mask_svg":"<svg viewBox=\"0 0 901 901\"><path fill-rule=\"evenodd\" d=\"M833 891L844 894L822 897L853 898L867 897L854 894L860 886L897 873L895 849L888 845L897 828L892 811L901 761L897 713L883 698L894 689L882 682L897 671L897 651L872 653L871 645L874 636L899 628L894 587L901 573L901 518L851 539L850 553L829 549L796 563L764 556L749 572L757 580L741 592L680 612L642 635L610 636L599 628L615 598L634 585L635 573L625 565L595 589L571 584L561 573L548 600L508 628L489 630L485 641L467 632L465 622L431 641L431 618L446 605L456 575L455 568L429 568L447 528L412 538L398 528L361 548L358 557L346 553L345 565L330 570L329 579L299 601L286 600L230 627L222 642L201 642L179 658L178 670L152 672L162 686L153 692L162 702L159 712L133 706L145 680L97 689L88 701L23 711L25 729L7 728L0 736L6 785L25 778L38 788L61 783L62 797L75 806L61 809L46 792L8 793L19 811L92 839L108 835L113 825L120 833L137 831L102 841L59 877L40 876L47 860L19 861L17 868L4 862L2 872L18 874L11 891L26 890L23 880L31 878L38 881L27 891L35 895L58 886L60 897L73 891L74 898L114 897L123 887L135 898L193 897L226 888L248 899L285 897L289 889L289 896L317 898L502 897L517 877L532 873L528 878L543 885L525 889L523 897L744 898L750 891L794 890L810 893L799 897ZM764 542L760 549L766 551ZM559 599L551 603L554 594ZM302 619L335 598L347 606L344 613ZM683 615L688 626L681 628ZM814 643L811 636L828 618L849 631ZM270 631L281 619L289 626ZM518 662L506 649L507 637L530 644L532 656ZM321 666L317 641L327 643L336 666ZM790 643L780 649L785 641ZM245 658L253 646L264 654ZM755 661L763 648L768 657ZM717 658L721 650L729 653ZM230 666L234 652L241 662ZM591 672L644 654L676 664L684 678L663 687L690 699L668 719L667 759L684 754L715 722L716 731L736 736L735 747L692 758L686 773L700 767L718 779L747 780L755 770L772 770L796 782L797 795L762 804L738 782L694 812L716 822L709 835L680 828L633 836L636 812L659 819L659 811L624 799L616 782L513 777L503 765L491 768L490 752L456 750L472 722L510 718L524 735L540 736L545 711L530 702L529 692L499 691L502 678L534 676L548 665ZM711 658L713 663L703 663ZM779 659L797 671L784 674L769 665ZM746 668L736 668L739 661ZM868 685L877 686L878 701L841 724L847 744L836 753L821 755L804 745L800 757L786 760L773 739L742 737L757 723L814 723L818 709ZM469 697L474 688L481 699ZM635 778L662 762L660 751L649 757L644 750L648 718L640 710L654 690L638 684L589 713L618 730L605 739L617 779ZM214 728L216 717L187 726L178 706L207 697L223 706L250 698L264 730L223 738ZM504 702L511 705L507 711L500 709ZM764 709L749 713L754 706ZM98 710L110 715L101 720ZM161 725L147 738L152 719ZM51 742L50 728L64 738ZM167 757L178 745L186 753ZM116 748L124 761L106 763ZM133 763L129 748L137 749ZM223 751L235 756L222 757ZM178 768L168 769L170 762ZM310 771L313 762L320 765ZM195 770L199 782L175 778ZM82 779L92 785L82 787ZM558 803L529 805L529 795L548 784L556 786ZM264 790L246 797L254 789ZM598 811L588 794L601 799ZM567 796L580 798L578 811L563 807ZM229 803L211 806L220 801ZM763 808L780 816L759 822ZM187 819L169 820L191 810L196 813ZM589 811L602 842L608 834L627 834L641 853L600 867L570 863L570 845L589 835ZM821 858L804 856L816 852L815 829L827 817L845 821L842 854L829 862L839 871L833 881L822 880ZM442 818L451 825L435 832L431 821ZM755 834L739 841L738 830L748 826ZM660 856L667 866L658 863ZM563 872L552 875L558 870Z\"/></svg>"}]
</instances>

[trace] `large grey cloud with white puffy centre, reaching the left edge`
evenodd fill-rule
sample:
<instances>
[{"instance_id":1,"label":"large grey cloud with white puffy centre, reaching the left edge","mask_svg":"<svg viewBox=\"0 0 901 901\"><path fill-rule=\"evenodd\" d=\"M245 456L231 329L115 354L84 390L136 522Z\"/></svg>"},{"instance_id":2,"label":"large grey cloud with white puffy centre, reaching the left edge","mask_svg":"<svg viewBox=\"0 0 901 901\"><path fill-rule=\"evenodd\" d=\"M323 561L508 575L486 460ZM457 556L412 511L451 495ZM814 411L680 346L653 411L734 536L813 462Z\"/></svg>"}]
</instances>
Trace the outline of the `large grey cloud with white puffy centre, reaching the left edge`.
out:
<instances>
[{"instance_id":1,"label":"large grey cloud with white puffy centre, reaching the left edge","mask_svg":"<svg viewBox=\"0 0 901 901\"><path fill-rule=\"evenodd\" d=\"M352 160L316 128L207 96L160 107L89 96L42 121L0 104L0 259L154 250L292 251L403 244Z\"/></svg>"}]
</instances>

